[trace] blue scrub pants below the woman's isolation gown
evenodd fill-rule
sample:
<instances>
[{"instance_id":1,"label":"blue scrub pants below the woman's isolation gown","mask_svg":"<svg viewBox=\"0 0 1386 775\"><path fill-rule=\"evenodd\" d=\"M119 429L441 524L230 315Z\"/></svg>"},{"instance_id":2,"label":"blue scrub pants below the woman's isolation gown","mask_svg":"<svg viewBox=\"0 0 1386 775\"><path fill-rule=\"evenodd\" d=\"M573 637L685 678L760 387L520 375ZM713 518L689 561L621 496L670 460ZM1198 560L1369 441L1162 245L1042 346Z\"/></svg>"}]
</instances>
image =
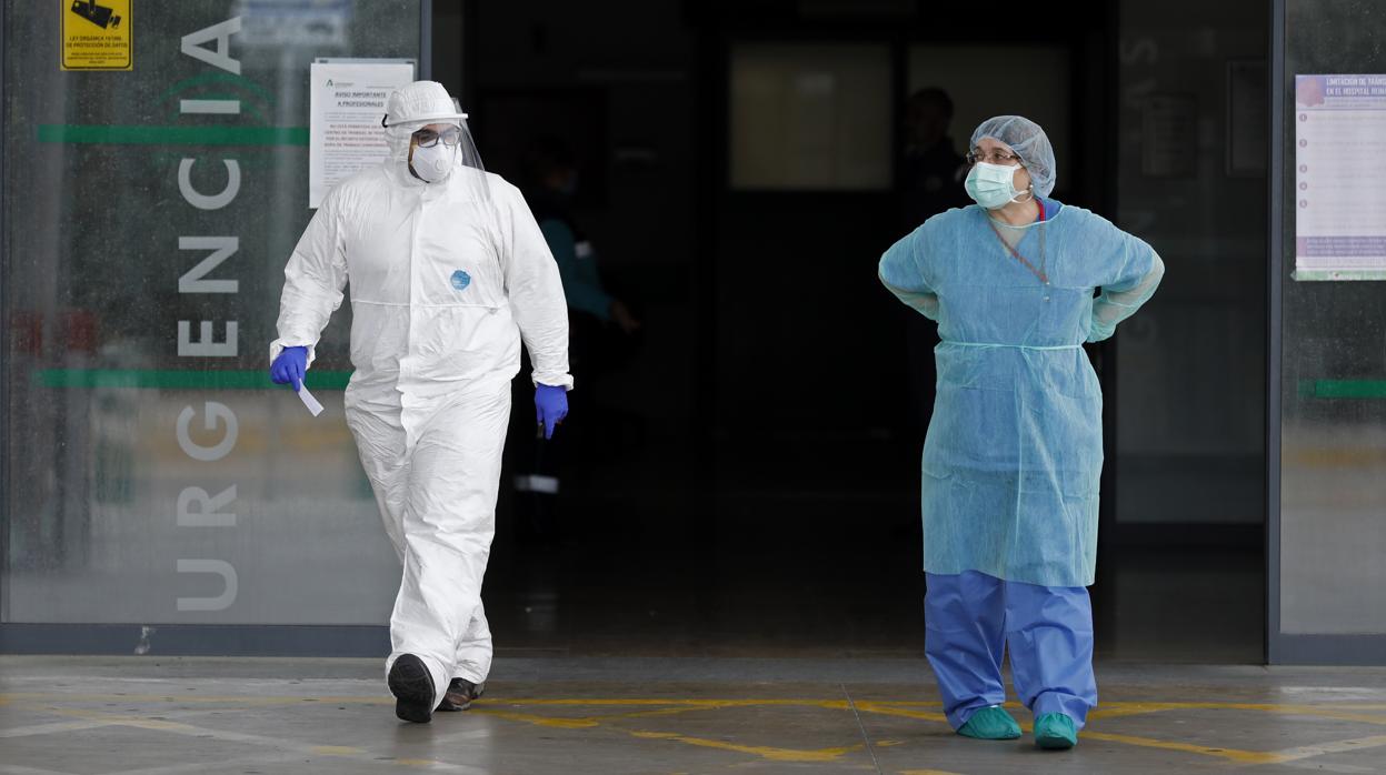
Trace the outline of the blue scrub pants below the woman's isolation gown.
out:
<instances>
[{"instance_id":1,"label":"blue scrub pants below the woman's isolation gown","mask_svg":"<svg viewBox=\"0 0 1386 775\"><path fill-rule=\"evenodd\" d=\"M1037 717L1063 713L1082 728L1098 704L1087 588L1003 581L974 570L924 576L924 652L954 729L1006 700L1001 657L1008 645L1020 702Z\"/></svg>"}]
</instances>

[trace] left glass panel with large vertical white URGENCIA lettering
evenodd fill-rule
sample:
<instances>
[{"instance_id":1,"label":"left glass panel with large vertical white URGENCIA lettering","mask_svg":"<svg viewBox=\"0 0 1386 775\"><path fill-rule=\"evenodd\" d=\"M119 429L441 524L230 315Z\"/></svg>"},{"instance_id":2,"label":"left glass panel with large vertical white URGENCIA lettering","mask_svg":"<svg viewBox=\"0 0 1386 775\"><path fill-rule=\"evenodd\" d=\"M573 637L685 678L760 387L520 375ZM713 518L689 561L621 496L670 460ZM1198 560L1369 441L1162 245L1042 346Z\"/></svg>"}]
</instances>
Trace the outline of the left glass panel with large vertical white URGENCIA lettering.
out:
<instances>
[{"instance_id":1,"label":"left glass panel with large vertical white URGENCIA lettering","mask_svg":"<svg viewBox=\"0 0 1386 775\"><path fill-rule=\"evenodd\" d=\"M265 376L312 215L308 65L407 57L420 1L141 4L132 72L6 17L4 621L380 624L398 562L342 422L349 310Z\"/></svg>"}]
</instances>

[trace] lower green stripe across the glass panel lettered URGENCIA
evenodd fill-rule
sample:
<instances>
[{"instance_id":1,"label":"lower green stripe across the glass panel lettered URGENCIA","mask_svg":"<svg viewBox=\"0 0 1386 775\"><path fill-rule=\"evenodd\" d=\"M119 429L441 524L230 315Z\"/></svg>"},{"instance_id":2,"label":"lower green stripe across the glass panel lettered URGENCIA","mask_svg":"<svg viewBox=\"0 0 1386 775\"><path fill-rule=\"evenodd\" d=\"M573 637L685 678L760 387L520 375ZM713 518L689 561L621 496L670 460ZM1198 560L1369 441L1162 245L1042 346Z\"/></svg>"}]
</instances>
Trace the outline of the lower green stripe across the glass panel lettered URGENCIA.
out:
<instances>
[{"instance_id":1,"label":"lower green stripe across the glass panel lettered URGENCIA","mask_svg":"<svg viewBox=\"0 0 1386 775\"><path fill-rule=\"evenodd\" d=\"M309 390L345 390L349 371L310 371ZM265 371L158 371L47 368L35 374L43 388L133 388L146 390L287 390Z\"/></svg>"}]
</instances>

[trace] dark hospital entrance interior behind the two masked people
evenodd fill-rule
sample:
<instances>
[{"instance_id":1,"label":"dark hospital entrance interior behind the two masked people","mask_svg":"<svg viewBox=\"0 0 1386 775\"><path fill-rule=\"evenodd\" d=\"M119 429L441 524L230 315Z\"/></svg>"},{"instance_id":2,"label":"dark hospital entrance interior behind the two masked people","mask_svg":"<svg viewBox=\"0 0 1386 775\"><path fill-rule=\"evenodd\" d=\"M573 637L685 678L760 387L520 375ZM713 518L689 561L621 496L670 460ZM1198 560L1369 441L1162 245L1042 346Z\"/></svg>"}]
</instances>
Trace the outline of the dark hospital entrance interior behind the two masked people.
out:
<instances>
[{"instance_id":1,"label":"dark hospital entrance interior behind the two masked people","mask_svg":"<svg viewBox=\"0 0 1386 775\"><path fill-rule=\"evenodd\" d=\"M924 100L912 116L911 95L942 90L955 155L981 119L1028 115L1055 143L1053 197L1168 266L1125 334L1087 349L1106 396L1098 656L1263 659L1267 14L1012 11L437 7L434 75L473 107L488 167L520 184L527 144L560 137L574 219L642 321L590 331L550 459L511 428L505 480L543 468L561 491L502 498L486 598L510 648L918 652L937 338L876 262L930 208L965 203L923 192L937 183L909 163L941 115ZM825 62L847 87L814 95Z\"/></svg>"}]
</instances>

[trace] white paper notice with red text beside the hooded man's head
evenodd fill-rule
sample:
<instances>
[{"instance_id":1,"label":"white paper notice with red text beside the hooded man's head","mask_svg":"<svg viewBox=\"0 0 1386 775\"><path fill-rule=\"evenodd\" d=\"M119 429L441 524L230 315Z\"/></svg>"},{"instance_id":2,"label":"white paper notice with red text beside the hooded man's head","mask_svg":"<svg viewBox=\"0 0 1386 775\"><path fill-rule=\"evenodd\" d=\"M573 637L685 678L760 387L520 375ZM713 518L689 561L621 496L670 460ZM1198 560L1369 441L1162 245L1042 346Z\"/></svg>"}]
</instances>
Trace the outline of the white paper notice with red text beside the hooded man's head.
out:
<instances>
[{"instance_id":1,"label":"white paper notice with red text beside the hooded man's head","mask_svg":"<svg viewBox=\"0 0 1386 775\"><path fill-rule=\"evenodd\" d=\"M317 208L334 185L378 165L388 154L389 94L414 80L412 62L313 62L309 119L308 206Z\"/></svg>"}]
</instances>

